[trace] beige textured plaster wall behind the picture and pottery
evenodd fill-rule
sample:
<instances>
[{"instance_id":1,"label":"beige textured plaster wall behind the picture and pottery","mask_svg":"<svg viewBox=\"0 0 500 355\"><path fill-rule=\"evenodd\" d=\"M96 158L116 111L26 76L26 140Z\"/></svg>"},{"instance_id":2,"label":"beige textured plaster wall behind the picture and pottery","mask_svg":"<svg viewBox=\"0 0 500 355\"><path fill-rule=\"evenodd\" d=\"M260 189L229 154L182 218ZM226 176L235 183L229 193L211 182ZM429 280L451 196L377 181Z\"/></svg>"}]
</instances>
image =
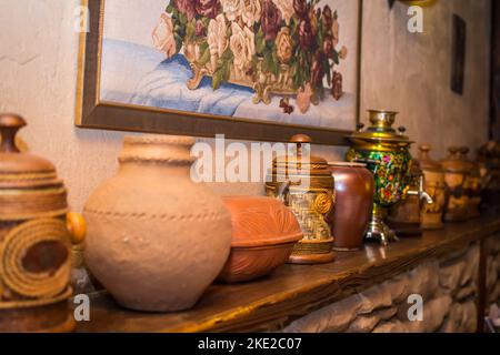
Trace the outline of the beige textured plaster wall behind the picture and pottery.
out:
<instances>
[{"instance_id":1,"label":"beige textured plaster wall behind the picture and pottery","mask_svg":"<svg viewBox=\"0 0 500 355\"><path fill-rule=\"evenodd\" d=\"M90 192L117 168L123 134L78 130L74 120L79 0L0 0L0 111L29 120L22 138L50 158L80 210ZM453 143L477 148L487 139L490 0L440 0L426 11L423 34L406 31L406 7L364 1L362 109L401 111L416 140L440 155ZM451 12L469 26L466 93L450 92ZM318 148L328 160L342 148ZM221 194L259 194L260 184L219 184Z\"/></svg>"}]
</instances>

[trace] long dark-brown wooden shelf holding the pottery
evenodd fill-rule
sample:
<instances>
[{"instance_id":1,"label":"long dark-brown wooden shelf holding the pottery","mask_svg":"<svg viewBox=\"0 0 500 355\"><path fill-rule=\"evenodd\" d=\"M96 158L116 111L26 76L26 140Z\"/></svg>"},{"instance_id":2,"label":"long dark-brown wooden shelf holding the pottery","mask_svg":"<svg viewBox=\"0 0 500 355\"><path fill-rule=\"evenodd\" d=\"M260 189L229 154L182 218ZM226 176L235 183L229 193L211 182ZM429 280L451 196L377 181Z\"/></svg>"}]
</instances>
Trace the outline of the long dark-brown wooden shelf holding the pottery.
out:
<instances>
[{"instance_id":1,"label":"long dark-brown wooden shelf holding the pottery","mask_svg":"<svg viewBox=\"0 0 500 355\"><path fill-rule=\"evenodd\" d=\"M500 232L500 214L448 224L382 248L337 253L331 264L284 265L250 283L212 285L194 308L151 314L123 310L106 293L91 294L91 321L79 332L277 331L320 307L381 283L431 257L452 253ZM130 285L133 287L133 285Z\"/></svg>"}]
</instances>

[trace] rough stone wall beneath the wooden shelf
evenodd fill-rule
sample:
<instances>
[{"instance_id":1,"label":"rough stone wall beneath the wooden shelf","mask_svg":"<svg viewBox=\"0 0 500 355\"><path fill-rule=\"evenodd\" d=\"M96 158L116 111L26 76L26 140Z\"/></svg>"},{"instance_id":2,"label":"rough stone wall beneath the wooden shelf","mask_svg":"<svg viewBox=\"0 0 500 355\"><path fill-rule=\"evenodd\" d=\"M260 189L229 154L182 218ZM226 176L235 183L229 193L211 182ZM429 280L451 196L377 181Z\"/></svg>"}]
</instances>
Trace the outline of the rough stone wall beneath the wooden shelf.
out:
<instances>
[{"instance_id":1,"label":"rough stone wall beneath the wooden shelf","mask_svg":"<svg viewBox=\"0 0 500 355\"><path fill-rule=\"evenodd\" d=\"M294 321L283 332L476 332L478 270L479 244L476 243L316 311ZM412 294L423 300L421 322L408 318L408 310L413 304L408 300Z\"/></svg>"}]
</instances>

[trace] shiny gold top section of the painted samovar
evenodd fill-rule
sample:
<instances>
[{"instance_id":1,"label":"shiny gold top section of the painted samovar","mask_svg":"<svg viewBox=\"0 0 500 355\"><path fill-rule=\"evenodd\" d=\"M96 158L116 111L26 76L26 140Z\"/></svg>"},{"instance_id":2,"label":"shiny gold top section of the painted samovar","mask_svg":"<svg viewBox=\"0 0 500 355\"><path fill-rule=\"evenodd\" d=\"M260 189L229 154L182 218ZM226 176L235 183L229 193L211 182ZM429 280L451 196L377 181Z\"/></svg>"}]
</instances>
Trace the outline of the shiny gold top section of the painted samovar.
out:
<instances>
[{"instance_id":1,"label":"shiny gold top section of the painted samovar","mask_svg":"<svg viewBox=\"0 0 500 355\"><path fill-rule=\"evenodd\" d=\"M363 131L364 124L358 124L358 131L349 136L351 141L356 142L361 140L366 142L412 143L410 139L404 135L406 128L400 126L398 131L392 128L398 112L368 110L368 114L371 125Z\"/></svg>"}]
</instances>

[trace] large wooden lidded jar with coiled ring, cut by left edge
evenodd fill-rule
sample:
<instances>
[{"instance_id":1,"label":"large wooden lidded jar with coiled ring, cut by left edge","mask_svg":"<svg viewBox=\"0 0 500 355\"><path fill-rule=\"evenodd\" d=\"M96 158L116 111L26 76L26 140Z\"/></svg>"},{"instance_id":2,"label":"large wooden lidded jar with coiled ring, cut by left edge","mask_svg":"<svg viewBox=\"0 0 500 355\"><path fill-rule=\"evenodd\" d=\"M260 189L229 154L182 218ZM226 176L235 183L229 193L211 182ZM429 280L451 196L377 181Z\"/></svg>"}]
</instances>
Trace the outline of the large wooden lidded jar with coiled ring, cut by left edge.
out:
<instances>
[{"instance_id":1,"label":"large wooden lidded jar with coiled ring, cut by left edge","mask_svg":"<svg viewBox=\"0 0 500 355\"><path fill-rule=\"evenodd\" d=\"M67 214L67 191L54 166L21 153L26 121L0 115L0 332L70 332L71 242L84 222Z\"/></svg>"}]
</instances>

